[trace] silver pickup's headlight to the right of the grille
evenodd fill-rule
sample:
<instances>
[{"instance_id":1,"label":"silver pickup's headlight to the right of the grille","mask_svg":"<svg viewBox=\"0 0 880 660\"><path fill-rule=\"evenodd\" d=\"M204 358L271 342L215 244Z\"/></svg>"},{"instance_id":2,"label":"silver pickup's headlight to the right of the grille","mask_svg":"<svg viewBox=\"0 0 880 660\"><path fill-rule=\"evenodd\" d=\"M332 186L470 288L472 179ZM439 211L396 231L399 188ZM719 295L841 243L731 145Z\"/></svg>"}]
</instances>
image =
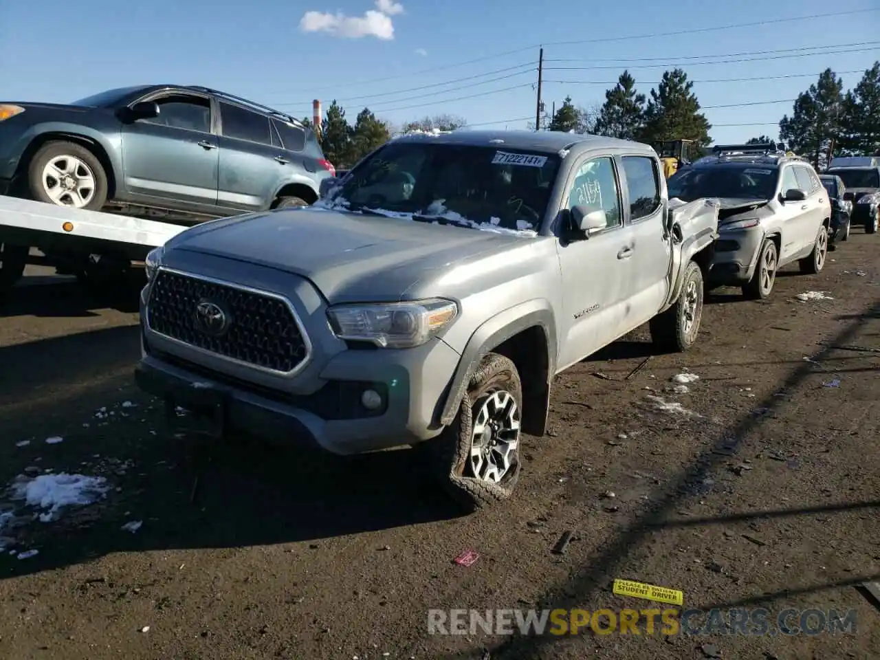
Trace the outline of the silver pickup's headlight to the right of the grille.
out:
<instances>
[{"instance_id":1,"label":"silver pickup's headlight to the right of the grille","mask_svg":"<svg viewBox=\"0 0 880 660\"><path fill-rule=\"evenodd\" d=\"M381 348L421 346L458 317L458 305L433 298L407 303L338 304L327 310L334 334Z\"/></svg>"}]
</instances>

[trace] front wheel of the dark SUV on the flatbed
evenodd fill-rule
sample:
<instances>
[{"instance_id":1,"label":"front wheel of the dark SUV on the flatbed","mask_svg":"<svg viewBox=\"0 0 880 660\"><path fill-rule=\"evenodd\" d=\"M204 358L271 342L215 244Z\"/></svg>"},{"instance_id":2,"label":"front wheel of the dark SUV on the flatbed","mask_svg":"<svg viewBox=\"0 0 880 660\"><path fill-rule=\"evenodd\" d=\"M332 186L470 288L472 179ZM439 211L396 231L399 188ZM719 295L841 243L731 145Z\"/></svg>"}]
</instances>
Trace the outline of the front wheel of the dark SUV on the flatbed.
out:
<instances>
[{"instance_id":1,"label":"front wheel of the dark SUV on the flatbed","mask_svg":"<svg viewBox=\"0 0 880 660\"><path fill-rule=\"evenodd\" d=\"M56 206L99 210L107 198L107 177L92 151L70 142L40 147L27 166L31 198Z\"/></svg>"}]
</instances>

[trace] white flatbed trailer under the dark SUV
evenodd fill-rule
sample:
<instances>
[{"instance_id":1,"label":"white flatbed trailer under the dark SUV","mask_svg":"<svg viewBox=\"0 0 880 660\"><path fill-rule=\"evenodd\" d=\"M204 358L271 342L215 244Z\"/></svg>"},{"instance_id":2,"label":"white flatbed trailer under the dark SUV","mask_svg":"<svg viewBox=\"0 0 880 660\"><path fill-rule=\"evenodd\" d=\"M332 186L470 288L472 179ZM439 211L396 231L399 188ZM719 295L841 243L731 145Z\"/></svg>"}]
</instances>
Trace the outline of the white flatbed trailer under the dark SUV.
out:
<instances>
[{"instance_id":1,"label":"white flatbed trailer under the dark SUV","mask_svg":"<svg viewBox=\"0 0 880 660\"><path fill-rule=\"evenodd\" d=\"M165 245L185 229L183 224L0 195L0 286L18 279L20 273L11 273L18 269L16 259L30 261L27 253L20 256L22 248L36 247L47 256L81 255L85 259L99 254L142 261L152 248Z\"/></svg>"}]
</instances>

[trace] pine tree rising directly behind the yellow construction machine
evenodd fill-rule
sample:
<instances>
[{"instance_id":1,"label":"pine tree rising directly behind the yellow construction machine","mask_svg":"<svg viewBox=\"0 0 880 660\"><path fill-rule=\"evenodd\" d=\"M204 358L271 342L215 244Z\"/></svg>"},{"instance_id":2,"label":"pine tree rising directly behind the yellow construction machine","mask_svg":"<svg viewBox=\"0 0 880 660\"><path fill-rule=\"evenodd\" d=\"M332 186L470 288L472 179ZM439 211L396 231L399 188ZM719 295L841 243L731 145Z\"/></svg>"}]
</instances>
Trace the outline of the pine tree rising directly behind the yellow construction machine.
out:
<instances>
[{"instance_id":1,"label":"pine tree rising directly behind the yellow construction machine","mask_svg":"<svg viewBox=\"0 0 880 660\"><path fill-rule=\"evenodd\" d=\"M700 113L700 101L685 71L664 71L645 108L644 127L639 131L642 142L693 140L693 149L701 150L712 142L710 128L712 124Z\"/></svg>"}]
</instances>

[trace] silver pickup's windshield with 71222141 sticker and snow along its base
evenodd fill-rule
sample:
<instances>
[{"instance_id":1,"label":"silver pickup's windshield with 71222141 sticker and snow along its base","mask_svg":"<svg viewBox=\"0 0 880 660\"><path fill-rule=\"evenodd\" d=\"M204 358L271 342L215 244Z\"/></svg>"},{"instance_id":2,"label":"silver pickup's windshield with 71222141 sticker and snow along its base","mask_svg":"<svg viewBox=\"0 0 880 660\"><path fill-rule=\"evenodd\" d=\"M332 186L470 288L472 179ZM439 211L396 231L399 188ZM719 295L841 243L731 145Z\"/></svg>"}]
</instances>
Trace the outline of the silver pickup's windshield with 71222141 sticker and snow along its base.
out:
<instances>
[{"instance_id":1,"label":"silver pickup's windshield with 71222141 sticker and snow along its base","mask_svg":"<svg viewBox=\"0 0 880 660\"><path fill-rule=\"evenodd\" d=\"M319 205L534 235L560 158L469 144L388 143Z\"/></svg>"}]
</instances>

